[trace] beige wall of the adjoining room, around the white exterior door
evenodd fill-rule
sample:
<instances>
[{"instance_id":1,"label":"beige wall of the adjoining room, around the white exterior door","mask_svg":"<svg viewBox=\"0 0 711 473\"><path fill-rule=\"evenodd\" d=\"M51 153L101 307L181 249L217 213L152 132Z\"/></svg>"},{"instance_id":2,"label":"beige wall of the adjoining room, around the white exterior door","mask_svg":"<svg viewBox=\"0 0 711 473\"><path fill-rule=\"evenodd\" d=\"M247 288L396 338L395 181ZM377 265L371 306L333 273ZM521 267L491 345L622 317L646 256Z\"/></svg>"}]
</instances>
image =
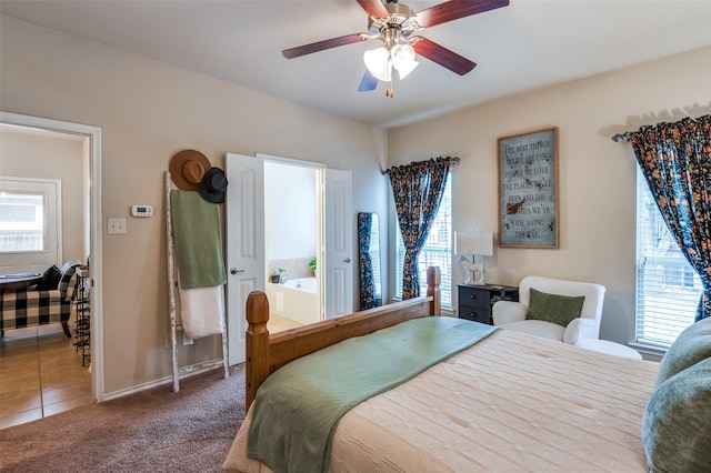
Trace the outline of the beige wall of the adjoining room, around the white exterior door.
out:
<instances>
[{"instance_id":1,"label":"beige wall of the adjoining room, around the white exterior door","mask_svg":"<svg viewBox=\"0 0 711 473\"><path fill-rule=\"evenodd\" d=\"M62 260L84 261L84 152L82 140L51 132L0 130L0 177L57 179L62 189Z\"/></svg>"}]
</instances>

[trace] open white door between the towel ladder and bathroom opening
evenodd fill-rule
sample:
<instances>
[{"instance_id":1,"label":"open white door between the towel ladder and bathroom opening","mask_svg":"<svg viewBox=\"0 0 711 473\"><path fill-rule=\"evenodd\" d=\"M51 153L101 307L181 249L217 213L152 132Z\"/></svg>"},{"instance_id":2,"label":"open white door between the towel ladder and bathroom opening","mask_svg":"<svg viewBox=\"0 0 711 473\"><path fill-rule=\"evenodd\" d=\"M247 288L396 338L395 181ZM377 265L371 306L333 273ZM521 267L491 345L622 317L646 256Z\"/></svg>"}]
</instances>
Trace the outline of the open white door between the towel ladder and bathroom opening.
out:
<instances>
[{"instance_id":1,"label":"open white door between the towel ladder and bathroom opening","mask_svg":"<svg viewBox=\"0 0 711 473\"><path fill-rule=\"evenodd\" d=\"M227 313L229 364L244 362L247 298L263 291L264 161L227 153Z\"/></svg>"}]
</instances>

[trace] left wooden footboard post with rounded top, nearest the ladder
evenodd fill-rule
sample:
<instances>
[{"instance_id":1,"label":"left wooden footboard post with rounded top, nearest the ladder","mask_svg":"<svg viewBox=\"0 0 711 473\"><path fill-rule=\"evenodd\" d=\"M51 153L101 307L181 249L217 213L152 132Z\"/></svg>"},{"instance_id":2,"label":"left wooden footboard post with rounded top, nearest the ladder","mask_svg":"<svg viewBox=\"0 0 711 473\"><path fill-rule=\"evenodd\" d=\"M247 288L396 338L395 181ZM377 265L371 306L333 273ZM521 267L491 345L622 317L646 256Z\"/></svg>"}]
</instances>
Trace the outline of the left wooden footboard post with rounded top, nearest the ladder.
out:
<instances>
[{"instance_id":1,"label":"left wooden footboard post with rounded top, nearest the ladder","mask_svg":"<svg viewBox=\"0 0 711 473\"><path fill-rule=\"evenodd\" d=\"M257 388L269 376L269 301L262 291L247 298L247 407L257 395Z\"/></svg>"}]
</instances>

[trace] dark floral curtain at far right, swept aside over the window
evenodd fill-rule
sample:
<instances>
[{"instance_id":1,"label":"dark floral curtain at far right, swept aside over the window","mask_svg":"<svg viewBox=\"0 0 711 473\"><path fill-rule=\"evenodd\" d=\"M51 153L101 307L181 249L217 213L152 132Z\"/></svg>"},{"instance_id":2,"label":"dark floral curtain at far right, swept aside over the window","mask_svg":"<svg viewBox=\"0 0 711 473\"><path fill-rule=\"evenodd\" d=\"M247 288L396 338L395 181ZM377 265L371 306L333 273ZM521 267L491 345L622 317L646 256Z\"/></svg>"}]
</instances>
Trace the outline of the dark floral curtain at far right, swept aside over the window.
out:
<instances>
[{"instance_id":1,"label":"dark floral curtain at far right, swept aside over the window","mask_svg":"<svg viewBox=\"0 0 711 473\"><path fill-rule=\"evenodd\" d=\"M701 278L695 319L711 316L711 115L642 127L630 142L671 234Z\"/></svg>"}]
</instances>

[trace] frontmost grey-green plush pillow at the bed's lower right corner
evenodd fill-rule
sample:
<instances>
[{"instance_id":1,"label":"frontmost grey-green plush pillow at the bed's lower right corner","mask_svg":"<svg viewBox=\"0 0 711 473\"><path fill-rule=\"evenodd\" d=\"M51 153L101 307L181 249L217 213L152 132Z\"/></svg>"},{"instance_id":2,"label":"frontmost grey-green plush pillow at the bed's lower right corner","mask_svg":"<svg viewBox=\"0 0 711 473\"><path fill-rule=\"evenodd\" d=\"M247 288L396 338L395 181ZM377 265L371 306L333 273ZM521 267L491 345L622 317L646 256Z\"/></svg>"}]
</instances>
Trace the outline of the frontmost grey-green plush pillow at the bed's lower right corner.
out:
<instances>
[{"instance_id":1,"label":"frontmost grey-green plush pillow at the bed's lower right corner","mask_svg":"<svg viewBox=\"0 0 711 473\"><path fill-rule=\"evenodd\" d=\"M711 359L664 381L642 417L650 472L695 473L711 465Z\"/></svg>"}]
</instances>

